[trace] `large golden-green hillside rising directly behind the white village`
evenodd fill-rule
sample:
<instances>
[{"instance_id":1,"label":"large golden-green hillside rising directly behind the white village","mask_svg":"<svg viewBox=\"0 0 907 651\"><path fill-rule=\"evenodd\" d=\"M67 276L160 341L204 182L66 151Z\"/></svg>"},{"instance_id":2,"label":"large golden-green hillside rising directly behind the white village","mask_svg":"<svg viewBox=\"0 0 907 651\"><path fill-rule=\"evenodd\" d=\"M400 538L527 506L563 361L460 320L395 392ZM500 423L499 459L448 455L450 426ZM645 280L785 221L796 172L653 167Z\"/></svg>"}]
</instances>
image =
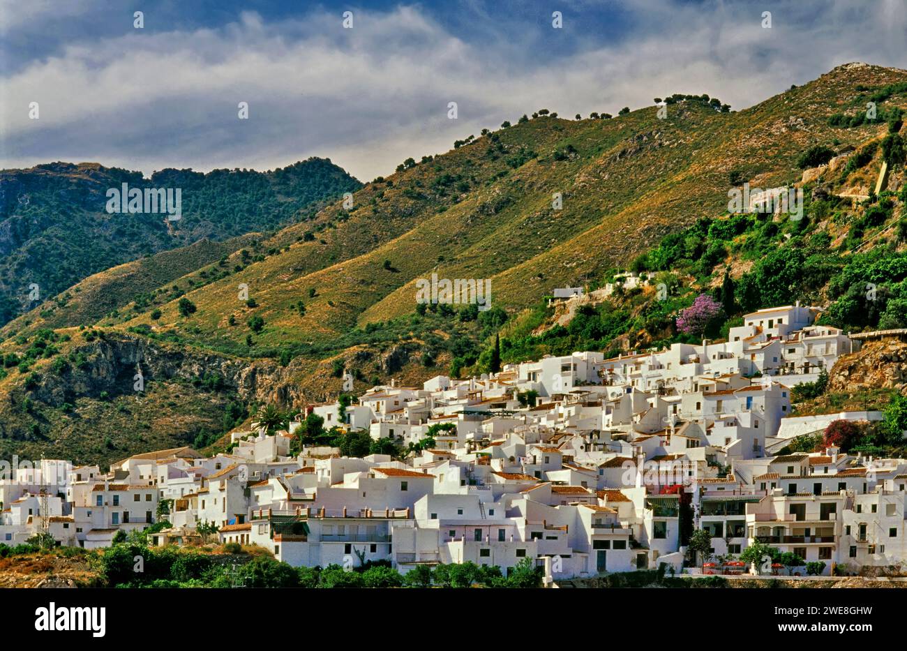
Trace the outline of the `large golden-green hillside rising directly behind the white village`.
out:
<instances>
[{"instance_id":1,"label":"large golden-green hillside rising directly behind the white village","mask_svg":"<svg viewBox=\"0 0 907 651\"><path fill-rule=\"evenodd\" d=\"M678 310L717 296L726 274L736 297L710 336L779 300L827 305L848 328L893 323L904 197L870 190L905 107L907 72L850 63L739 112L679 93L664 119L658 106L610 119L540 111L406 160L352 205L142 260L151 271L105 269L0 331L0 452L54 446L88 461L208 444L259 404L336 396L344 369L354 393L487 370L495 334L505 363L678 341ZM890 187L902 178L898 163ZM804 189L805 219L728 215L728 191L745 182ZM553 287L602 287L629 266L664 279L668 300L613 297L554 323ZM492 309L419 306L416 283L433 273L490 279ZM866 309L853 287L880 277L887 293ZM142 280L131 291L119 278Z\"/></svg>"}]
</instances>

